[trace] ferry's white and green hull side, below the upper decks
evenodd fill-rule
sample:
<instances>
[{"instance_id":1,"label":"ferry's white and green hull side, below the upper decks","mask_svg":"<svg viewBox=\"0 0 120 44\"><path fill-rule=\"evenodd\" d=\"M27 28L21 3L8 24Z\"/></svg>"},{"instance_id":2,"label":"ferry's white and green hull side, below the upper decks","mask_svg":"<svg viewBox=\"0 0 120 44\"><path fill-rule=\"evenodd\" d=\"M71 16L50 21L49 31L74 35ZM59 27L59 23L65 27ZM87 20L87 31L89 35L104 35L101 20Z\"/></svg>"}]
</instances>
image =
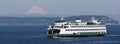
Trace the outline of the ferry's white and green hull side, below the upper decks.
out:
<instances>
[{"instance_id":1,"label":"ferry's white and green hull side, below the upper decks","mask_svg":"<svg viewBox=\"0 0 120 44\"><path fill-rule=\"evenodd\" d=\"M54 29L52 29L54 30ZM87 31L79 29L79 31L75 30L68 30L68 29L57 29L60 30L59 33L54 33L54 34L48 34L48 36L56 36L56 37L79 37L79 36L104 36L106 35L106 28L104 29L87 29Z\"/></svg>"}]
</instances>

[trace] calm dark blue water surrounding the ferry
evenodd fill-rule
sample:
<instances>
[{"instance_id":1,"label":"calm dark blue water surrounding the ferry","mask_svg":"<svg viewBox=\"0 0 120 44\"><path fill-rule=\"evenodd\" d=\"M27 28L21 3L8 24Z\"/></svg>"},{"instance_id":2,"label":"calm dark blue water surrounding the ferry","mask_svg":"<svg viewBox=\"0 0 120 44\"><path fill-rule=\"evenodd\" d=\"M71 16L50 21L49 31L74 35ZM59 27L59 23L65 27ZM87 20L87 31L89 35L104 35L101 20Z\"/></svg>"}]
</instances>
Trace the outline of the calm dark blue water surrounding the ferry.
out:
<instances>
[{"instance_id":1,"label":"calm dark blue water surrounding the ferry","mask_svg":"<svg viewBox=\"0 0 120 44\"><path fill-rule=\"evenodd\" d=\"M120 44L120 25L99 37L47 37L47 26L0 26L0 44Z\"/></svg>"}]
</instances>

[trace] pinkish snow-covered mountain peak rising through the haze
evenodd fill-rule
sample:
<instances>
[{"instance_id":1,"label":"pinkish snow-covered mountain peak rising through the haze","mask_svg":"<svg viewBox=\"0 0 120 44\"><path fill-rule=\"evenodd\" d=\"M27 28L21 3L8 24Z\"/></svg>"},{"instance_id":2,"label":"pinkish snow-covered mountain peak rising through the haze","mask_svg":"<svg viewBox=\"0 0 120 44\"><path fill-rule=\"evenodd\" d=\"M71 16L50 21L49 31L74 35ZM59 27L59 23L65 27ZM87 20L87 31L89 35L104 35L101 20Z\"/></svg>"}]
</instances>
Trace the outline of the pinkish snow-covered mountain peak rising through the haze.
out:
<instances>
[{"instance_id":1,"label":"pinkish snow-covered mountain peak rising through the haze","mask_svg":"<svg viewBox=\"0 0 120 44\"><path fill-rule=\"evenodd\" d=\"M24 14L47 14L47 12L43 10L42 8L33 6L32 8L27 10L27 12L25 12Z\"/></svg>"}]
</instances>

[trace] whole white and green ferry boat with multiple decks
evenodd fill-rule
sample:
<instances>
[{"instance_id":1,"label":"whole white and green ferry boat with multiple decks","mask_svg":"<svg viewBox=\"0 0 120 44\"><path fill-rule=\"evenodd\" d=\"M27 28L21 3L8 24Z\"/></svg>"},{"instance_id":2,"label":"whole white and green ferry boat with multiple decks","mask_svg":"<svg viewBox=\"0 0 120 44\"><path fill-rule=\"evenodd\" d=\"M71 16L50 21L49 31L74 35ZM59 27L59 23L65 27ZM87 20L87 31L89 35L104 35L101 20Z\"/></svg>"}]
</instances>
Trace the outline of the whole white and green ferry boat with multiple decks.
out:
<instances>
[{"instance_id":1,"label":"whole white and green ferry boat with multiple decks","mask_svg":"<svg viewBox=\"0 0 120 44\"><path fill-rule=\"evenodd\" d=\"M105 24L94 17L86 22L82 22L80 18L76 18L75 22L66 22L61 18L49 25L47 31L48 37L104 36L106 33Z\"/></svg>"}]
</instances>

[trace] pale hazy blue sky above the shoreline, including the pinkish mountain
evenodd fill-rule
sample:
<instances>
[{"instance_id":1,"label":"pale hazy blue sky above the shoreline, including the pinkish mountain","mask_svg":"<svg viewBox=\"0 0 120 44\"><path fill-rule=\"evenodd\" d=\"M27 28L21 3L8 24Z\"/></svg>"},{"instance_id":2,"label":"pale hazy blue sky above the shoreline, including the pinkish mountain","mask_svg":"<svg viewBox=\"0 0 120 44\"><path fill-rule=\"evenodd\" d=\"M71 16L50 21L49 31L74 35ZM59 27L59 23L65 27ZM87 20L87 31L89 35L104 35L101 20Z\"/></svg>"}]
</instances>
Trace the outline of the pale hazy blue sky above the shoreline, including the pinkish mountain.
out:
<instances>
[{"instance_id":1,"label":"pale hazy blue sky above the shoreline, including the pinkish mountain","mask_svg":"<svg viewBox=\"0 0 120 44\"><path fill-rule=\"evenodd\" d=\"M120 0L0 0L3 14L120 14Z\"/></svg>"}]
</instances>

